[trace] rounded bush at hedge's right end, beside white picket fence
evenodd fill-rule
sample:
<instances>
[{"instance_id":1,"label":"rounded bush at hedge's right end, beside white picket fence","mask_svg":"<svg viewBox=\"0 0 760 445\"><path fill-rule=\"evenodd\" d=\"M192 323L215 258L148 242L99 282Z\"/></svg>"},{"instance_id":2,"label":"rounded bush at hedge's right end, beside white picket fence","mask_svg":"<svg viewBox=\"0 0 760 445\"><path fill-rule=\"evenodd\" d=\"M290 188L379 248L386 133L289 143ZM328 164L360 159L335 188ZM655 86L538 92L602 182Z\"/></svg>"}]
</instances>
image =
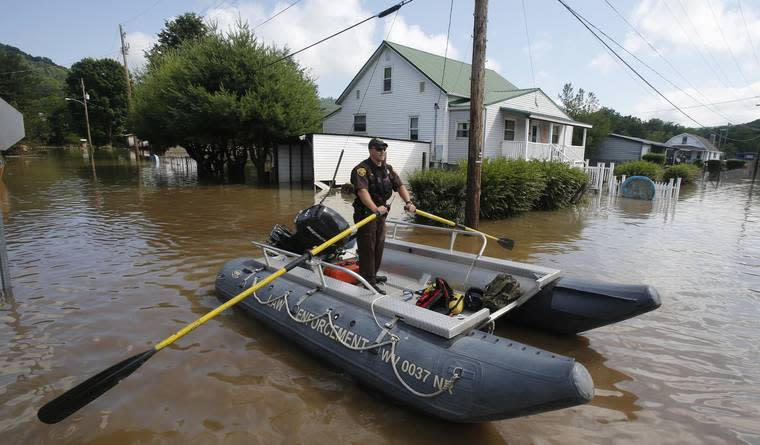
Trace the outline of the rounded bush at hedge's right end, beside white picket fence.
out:
<instances>
[{"instance_id":1,"label":"rounded bush at hedge's right end, beside white picket fence","mask_svg":"<svg viewBox=\"0 0 760 445\"><path fill-rule=\"evenodd\" d=\"M560 162L542 162L541 169L546 177L546 187L535 208L555 210L575 203L588 185L588 177L583 170L568 167Z\"/></svg>"}]
</instances>

